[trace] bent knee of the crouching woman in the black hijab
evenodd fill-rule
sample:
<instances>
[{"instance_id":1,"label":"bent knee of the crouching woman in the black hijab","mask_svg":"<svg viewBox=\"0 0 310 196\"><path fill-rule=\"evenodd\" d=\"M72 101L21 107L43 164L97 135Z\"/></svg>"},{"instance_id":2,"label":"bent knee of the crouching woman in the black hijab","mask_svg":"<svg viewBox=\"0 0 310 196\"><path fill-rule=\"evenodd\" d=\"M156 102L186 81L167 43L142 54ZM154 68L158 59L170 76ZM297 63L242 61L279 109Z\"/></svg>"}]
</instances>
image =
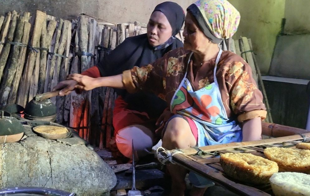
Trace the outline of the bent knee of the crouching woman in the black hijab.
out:
<instances>
[{"instance_id":1,"label":"bent knee of the crouching woman in the black hijab","mask_svg":"<svg viewBox=\"0 0 310 196\"><path fill-rule=\"evenodd\" d=\"M154 132L143 125L131 125L118 130L116 134L117 148L130 159L132 159L132 140L136 159L148 155L156 142Z\"/></svg>"}]
</instances>

